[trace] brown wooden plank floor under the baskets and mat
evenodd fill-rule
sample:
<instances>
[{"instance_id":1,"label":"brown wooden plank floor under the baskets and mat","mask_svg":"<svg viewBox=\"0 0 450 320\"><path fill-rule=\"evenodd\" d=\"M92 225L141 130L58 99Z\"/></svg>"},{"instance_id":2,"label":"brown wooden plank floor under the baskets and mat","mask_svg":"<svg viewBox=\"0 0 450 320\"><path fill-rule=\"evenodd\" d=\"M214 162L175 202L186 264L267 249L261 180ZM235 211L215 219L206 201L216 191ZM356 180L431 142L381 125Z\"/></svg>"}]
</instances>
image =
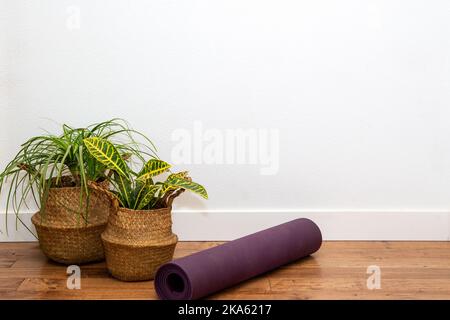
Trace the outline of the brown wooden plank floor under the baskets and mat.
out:
<instances>
[{"instance_id":1,"label":"brown wooden plank floor under the baskets and mat","mask_svg":"<svg viewBox=\"0 0 450 320\"><path fill-rule=\"evenodd\" d=\"M215 246L179 243L176 257ZM381 268L381 289L367 288L367 267ZM66 267L37 243L0 244L0 299L156 299L153 281L111 278L104 263L81 268L80 290L66 288ZM215 294L211 299L450 299L450 242L325 242L311 257Z\"/></svg>"}]
</instances>

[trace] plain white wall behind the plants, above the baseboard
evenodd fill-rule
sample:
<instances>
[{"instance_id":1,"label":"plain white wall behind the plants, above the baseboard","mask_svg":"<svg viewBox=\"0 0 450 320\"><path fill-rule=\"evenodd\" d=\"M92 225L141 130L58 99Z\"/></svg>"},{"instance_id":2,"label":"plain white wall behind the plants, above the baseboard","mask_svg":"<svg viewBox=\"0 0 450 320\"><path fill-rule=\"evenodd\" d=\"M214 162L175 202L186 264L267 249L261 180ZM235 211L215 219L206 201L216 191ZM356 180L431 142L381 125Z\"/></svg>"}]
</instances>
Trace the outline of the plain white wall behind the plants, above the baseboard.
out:
<instances>
[{"instance_id":1,"label":"plain white wall behind the plants, above the baseboard","mask_svg":"<svg viewBox=\"0 0 450 320\"><path fill-rule=\"evenodd\" d=\"M197 120L219 132L275 129L277 174L182 165L210 200L184 195L177 209L256 220L270 211L270 224L282 220L277 211L443 212L439 238L448 239L449 1L0 0L0 8L2 167L53 121L123 117L166 159L174 130L192 131ZM239 217L230 224L253 230ZM382 225L373 231L381 238Z\"/></svg>"}]
</instances>

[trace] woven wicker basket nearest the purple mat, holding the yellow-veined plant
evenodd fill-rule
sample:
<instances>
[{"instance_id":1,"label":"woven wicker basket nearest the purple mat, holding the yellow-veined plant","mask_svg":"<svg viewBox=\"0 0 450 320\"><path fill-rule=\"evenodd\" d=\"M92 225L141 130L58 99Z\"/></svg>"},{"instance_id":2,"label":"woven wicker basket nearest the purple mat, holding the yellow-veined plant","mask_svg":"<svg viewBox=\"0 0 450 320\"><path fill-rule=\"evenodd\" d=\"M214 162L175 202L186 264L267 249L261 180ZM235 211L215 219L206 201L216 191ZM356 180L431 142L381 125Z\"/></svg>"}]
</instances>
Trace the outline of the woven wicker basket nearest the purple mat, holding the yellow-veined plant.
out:
<instances>
[{"instance_id":1,"label":"woven wicker basket nearest the purple mat, holding the yellow-veined plant","mask_svg":"<svg viewBox=\"0 0 450 320\"><path fill-rule=\"evenodd\" d=\"M172 260L178 238L172 233L171 206L155 210L119 208L102 234L106 266L122 281L153 279Z\"/></svg>"}]
</instances>

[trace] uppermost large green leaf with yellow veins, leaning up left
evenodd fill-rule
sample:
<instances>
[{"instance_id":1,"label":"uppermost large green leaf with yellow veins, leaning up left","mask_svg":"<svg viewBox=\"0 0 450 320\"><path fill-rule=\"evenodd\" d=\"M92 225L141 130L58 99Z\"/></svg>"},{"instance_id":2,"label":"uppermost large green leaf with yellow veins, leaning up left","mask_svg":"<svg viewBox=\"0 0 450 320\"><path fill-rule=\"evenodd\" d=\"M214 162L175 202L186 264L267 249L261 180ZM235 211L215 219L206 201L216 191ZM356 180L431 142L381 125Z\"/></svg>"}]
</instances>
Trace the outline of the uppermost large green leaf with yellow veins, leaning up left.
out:
<instances>
[{"instance_id":1,"label":"uppermost large green leaf with yellow veins, leaning up left","mask_svg":"<svg viewBox=\"0 0 450 320\"><path fill-rule=\"evenodd\" d=\"M98 137L85 138L83 141L89 153L97 161L129 179L129 168L112 143Z\"/></svg>"}]
</instances>

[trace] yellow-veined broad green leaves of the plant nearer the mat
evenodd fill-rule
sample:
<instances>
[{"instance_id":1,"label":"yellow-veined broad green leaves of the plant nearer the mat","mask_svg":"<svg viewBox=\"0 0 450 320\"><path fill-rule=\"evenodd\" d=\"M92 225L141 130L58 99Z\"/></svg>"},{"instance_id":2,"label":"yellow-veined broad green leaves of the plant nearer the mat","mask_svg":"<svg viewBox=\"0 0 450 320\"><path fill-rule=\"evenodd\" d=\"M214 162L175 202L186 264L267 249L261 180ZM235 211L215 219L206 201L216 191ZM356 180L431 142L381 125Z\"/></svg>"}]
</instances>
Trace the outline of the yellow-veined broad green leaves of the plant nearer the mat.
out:
<instances>
[{"instance_id":1,"label":"yellow-veined broad green leaves of the plant nearer the mat","mask_svg":"<svg viewBox=\"0 0 450 320\"><path fill-rule=\"evenodd\" d=\"M193 182L187 172L172 173L164 182L154 182L154 177L170 170L171 165L165 161L150 159L139 172L135 172L107 139L90 137L84 139L84 143L91 156L110 170L108 177L113 194L124 208L149 210L164 207L168 197L184 190L208 198L205 188Z\"/></svg>"}]
</instances>

